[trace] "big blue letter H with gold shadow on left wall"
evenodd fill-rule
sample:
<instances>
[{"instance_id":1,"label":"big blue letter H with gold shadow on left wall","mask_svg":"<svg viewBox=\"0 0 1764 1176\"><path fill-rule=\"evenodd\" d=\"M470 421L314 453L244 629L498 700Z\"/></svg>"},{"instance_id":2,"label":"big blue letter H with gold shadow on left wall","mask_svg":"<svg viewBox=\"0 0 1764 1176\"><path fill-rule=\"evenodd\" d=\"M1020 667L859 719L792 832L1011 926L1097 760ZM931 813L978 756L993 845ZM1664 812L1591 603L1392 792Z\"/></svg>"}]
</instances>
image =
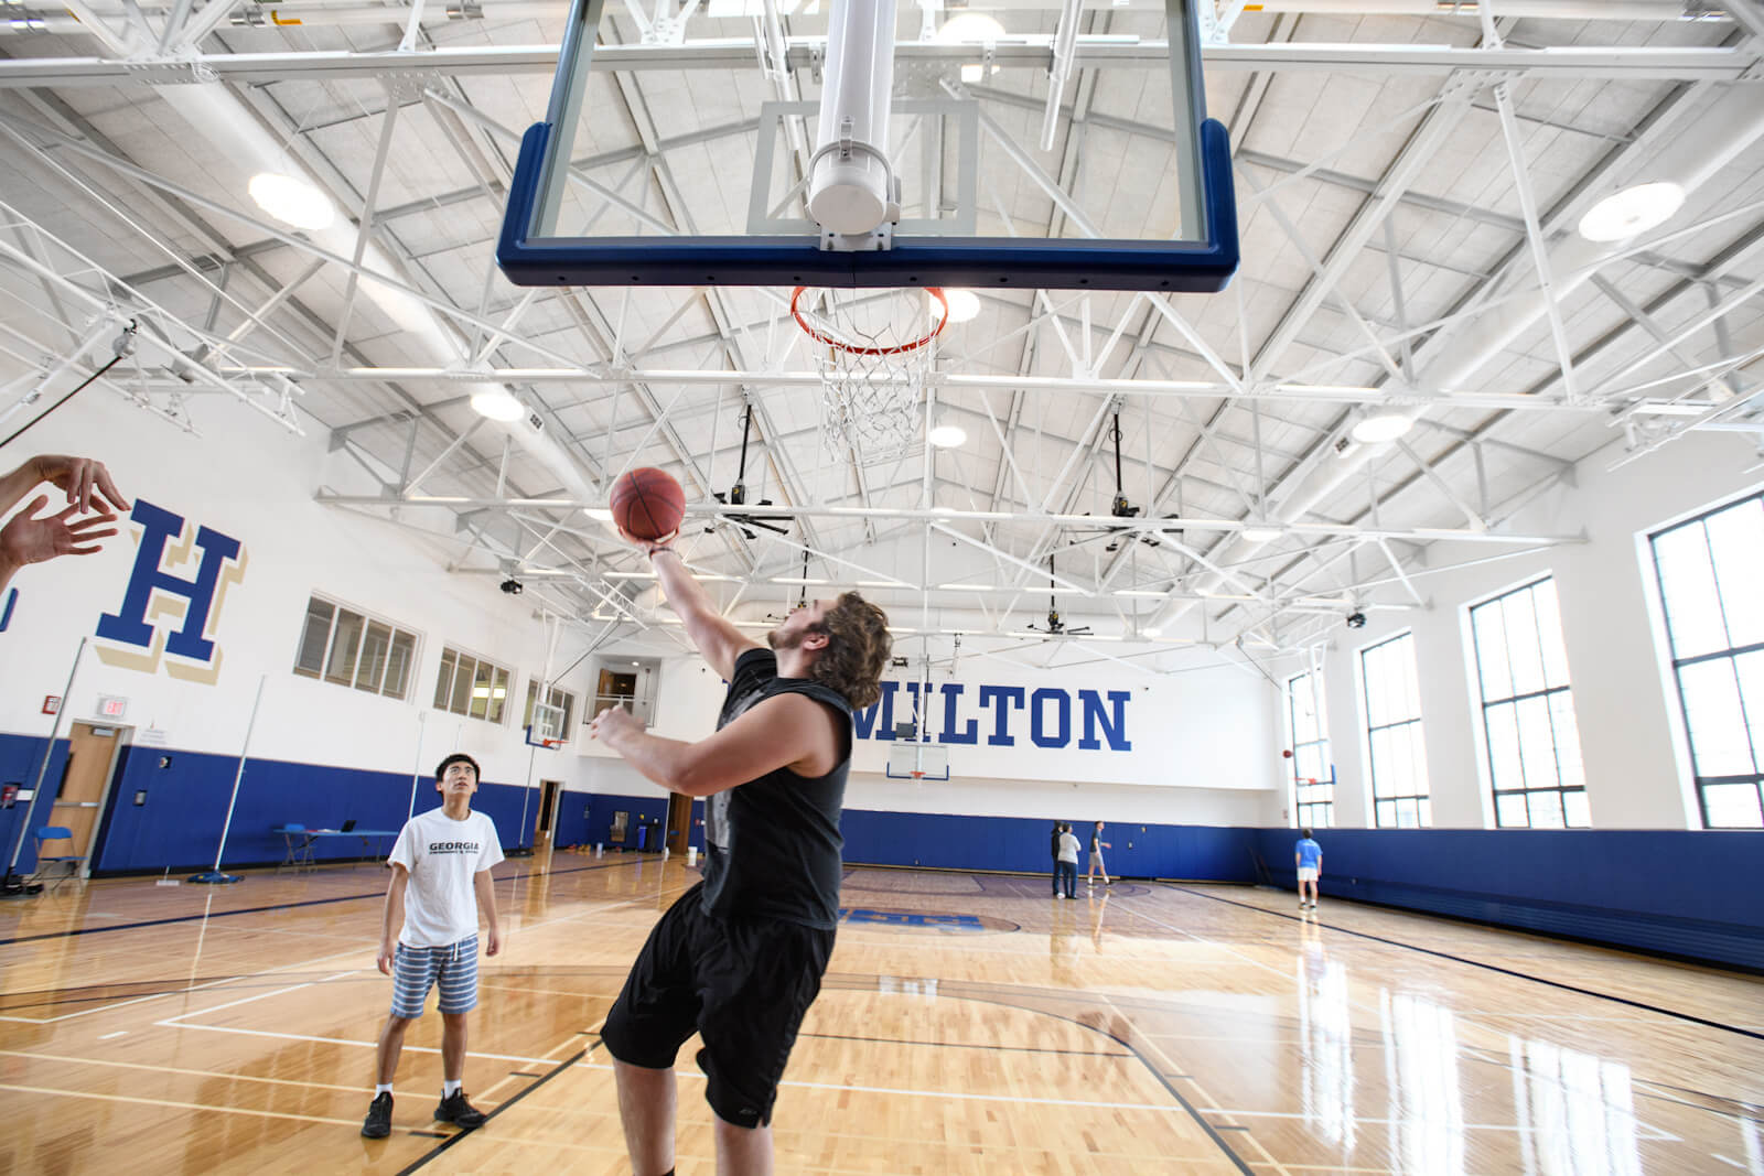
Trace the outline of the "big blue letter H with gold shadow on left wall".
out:
<instances>
[{"instance_id":1,"label":"big blue letter H with gold shadow on left wall","mask_svg":"<svg viewBox=\"0 0 1764 1176\"><path fill-rule=\"evenodd\" d=\"M215 633L226 591L245 578L243 543L146 499L134 501L129 522L134 569L122 607L99 617L99 658L143 674L164 663L171 677L212 686L220 677Z\"/></svg>"}]
</instances>

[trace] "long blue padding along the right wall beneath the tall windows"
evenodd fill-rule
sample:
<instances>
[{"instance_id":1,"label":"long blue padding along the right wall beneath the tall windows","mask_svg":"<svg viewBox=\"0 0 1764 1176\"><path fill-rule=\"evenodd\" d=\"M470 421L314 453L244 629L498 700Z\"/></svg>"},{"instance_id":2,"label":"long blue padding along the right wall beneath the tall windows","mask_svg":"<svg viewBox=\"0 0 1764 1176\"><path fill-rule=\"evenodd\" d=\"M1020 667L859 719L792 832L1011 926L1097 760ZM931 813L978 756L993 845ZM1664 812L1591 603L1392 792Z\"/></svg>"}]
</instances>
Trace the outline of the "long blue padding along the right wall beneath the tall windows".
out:
<instances>
[{"instance_id":1,"label":"long blue padding along the right wall beneath the tall windows","mask_svg":"<svg viewBox=\"0 0 1764 1176\"><path fill-rule=\"evenodd\" d=\"M1265 829L1295 885L1289 829ZM1327 829L1325 896L1764 970L1764 832Z\"/></svg>"}]
</instances>

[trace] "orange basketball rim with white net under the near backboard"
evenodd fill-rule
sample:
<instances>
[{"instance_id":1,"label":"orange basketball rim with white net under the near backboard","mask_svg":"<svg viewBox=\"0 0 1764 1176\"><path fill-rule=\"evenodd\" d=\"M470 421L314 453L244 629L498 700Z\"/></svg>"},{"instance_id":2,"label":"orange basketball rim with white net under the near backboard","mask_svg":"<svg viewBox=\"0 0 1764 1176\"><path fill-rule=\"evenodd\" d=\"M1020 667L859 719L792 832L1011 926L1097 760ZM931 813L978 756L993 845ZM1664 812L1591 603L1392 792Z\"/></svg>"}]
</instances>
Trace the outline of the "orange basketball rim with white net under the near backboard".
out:
<instances>
[{"instance_id":1,"label":"orange basketball rim with white net under the near backboard","mask_svg":"<svg viewBox=\"0 0 1764 1176\"><path fill-rule=\"evenodd\" d=\"M937 337L949 323L944 291L797 286L790 314L817 344L824 450L850 451L863 465L907 453L919 437L916 409Z\"/></svg>"}]
</instances>

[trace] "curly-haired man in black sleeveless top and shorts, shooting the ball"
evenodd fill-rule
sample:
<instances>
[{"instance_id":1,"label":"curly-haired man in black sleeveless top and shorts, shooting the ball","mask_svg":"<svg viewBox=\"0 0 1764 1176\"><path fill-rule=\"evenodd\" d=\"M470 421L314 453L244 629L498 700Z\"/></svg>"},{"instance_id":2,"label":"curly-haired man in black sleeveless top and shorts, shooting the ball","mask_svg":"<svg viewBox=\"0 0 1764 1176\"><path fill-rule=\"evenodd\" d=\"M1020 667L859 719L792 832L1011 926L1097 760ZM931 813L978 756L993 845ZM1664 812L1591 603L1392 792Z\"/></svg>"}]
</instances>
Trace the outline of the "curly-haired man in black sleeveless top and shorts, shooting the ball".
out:
<instances>
[{"instance_id":1,"label":"curly-haired man in black sleeveless top and shorts, shooting the ball","mask_svg":"<svg viewBox=\"0 0 1764 1176\"><path fill-rule=\"evenodd\" d=\"M654 783L709 797L704 882L649 933L602 1040L637 1176L674 1171L674 1056L693 1031L718 1171L769 1172L778 1081L833 954L852 711L880 696L887 615L845 592L792 612L766 649L721 617L669 543L640 543L729 693L699 742L649 735L621 707L593 721L591 737Z\"/></svg>"}]
</instances>

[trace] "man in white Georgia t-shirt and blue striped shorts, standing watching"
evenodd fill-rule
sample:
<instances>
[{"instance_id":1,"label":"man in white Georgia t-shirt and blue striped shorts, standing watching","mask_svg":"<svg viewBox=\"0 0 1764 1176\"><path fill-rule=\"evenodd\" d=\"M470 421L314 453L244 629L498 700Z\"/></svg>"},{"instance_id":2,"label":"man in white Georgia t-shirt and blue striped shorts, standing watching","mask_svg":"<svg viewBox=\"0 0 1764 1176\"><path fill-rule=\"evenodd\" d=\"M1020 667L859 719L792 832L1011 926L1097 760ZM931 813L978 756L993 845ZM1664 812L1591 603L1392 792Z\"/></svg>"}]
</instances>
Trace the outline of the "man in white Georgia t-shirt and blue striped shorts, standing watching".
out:
<instances>
[{"instance_id":1,"label":"man in white Georgia t-shirt and blue striped shorts, standing watching","mask_svg":"<svg viewBox=\"0 0 1764 1176\"><path fill-rule=\"evenodd\" d=\"M490 867L503 860L496 825L471 811L478 792L478 762L450 755L436 769L441 808L404 822L392 846L392 885L379 938L379 970L393 977L392 1016L379 1031L379 1070L374 1102L362 1134L392 1134L392 1076L404 1049L404 1030L423 1016L430 987L441 989L441 1105L436 1118L457 1127L478 1127L483 1113L466 1102L466 1014L478 1005L478 912L490 929L485 956L503 950L496 920Z\"/></svg>"}]
</instances>

